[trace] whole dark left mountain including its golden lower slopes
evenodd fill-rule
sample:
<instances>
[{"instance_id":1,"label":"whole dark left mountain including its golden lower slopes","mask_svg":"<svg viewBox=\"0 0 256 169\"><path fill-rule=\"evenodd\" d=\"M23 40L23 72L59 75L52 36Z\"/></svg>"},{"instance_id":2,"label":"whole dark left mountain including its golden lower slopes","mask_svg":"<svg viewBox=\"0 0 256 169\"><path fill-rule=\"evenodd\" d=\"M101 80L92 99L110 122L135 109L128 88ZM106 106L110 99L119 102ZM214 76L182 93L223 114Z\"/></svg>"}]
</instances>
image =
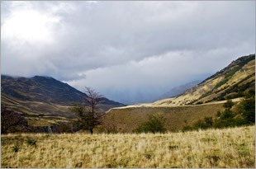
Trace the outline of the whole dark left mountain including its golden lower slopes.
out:
<instances>
[{"instance_id":1,"label":"whole dark left mountain including its golden lower slopes","mask_svg":"<svg viewBox=\"0 0 256 169\"><path fill-rule=\"evenodd\" d=\"M68 123L75 116L69 107L88 96L53 77L10 77L1 75L1 104L23 115L31 126ZM100 110L125 106L104 98Z\"/></svg>"}]
</instances>

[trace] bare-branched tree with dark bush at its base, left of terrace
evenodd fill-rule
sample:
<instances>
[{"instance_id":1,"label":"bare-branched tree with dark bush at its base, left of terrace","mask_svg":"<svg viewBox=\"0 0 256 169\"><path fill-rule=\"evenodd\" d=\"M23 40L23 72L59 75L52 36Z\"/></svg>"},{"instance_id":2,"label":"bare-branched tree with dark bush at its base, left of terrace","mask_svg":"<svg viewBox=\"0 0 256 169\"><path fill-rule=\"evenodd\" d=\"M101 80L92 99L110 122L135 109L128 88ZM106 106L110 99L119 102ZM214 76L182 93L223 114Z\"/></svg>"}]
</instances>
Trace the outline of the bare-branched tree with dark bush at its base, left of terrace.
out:
<instances>
[{"instance_id":1,"label":"bare-branched tree with dark bush at its base, left of terrace","mask_svg":"<svg viewBox=\"0 0 256 169\"><path fill-rule=\"evenodd\" d=\"M88 106L74 106L72 111L78 115L77 124L78 129L89 130L93 134L93 129L101 124L103 113L98 110L98 103L104 98L101 94L96 92L91 87L85 87L88 97L84 98Z\"/></svg>"}]
</instances>

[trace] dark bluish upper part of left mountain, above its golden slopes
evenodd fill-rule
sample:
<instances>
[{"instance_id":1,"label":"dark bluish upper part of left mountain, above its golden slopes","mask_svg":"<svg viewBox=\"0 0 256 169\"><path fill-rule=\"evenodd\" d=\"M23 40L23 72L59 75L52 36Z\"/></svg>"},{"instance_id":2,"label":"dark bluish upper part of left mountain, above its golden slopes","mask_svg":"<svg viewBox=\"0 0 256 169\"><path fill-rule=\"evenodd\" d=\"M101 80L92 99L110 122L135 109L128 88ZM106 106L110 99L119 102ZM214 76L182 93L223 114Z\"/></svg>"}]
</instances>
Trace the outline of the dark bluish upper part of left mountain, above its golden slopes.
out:
<instances>
[{"instance_id":1,"label":"dark bluish upper part of left mountain, above its golden slopes","mask_svg":"<svg viewBox=\"0 0 256 169\"><path fill-rule=\"evenodd\" d=\"M83 102L84 97L88 97L67 83L59 82L53 77L41 76L26 78L2 75L1 92L21 101L42 101L62 106L70 106L74 101ZM124 106L107 98L101 104Z\"/></svg>"}]
</instances>

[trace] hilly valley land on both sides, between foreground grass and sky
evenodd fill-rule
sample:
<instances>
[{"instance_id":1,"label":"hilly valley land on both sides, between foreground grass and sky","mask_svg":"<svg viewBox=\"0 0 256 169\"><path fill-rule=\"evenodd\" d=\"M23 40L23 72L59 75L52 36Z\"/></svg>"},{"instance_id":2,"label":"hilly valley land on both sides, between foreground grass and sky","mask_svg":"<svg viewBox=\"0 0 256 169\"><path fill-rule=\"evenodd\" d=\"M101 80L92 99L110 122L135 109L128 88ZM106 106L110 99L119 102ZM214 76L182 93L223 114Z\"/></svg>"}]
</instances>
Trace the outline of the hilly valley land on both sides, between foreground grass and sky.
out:
<instances>
[{"instance_id":1,"label":"hilly valley land on both sides, between foreground grass and sky","mask_svg":"<svg viewBox=\"0 0 256 169\"><path fill-rule=\"evenodd\" d=\"M62 125L70 125L77 116L71 111L75 102L88 106L89 97L68 84L52 77L9 77L2 75L1 104L26 118L35 132L51 127L60 132ZM193 86L196 82L193 83ZM187 87L185 85L184 87ZM163 115L168 131L183 129L205 117L216 118L223 111L227 99L236 110L245 93L255 87L255 55L240 57L218 73L206 78L183 94L153 103L125 106L104 97L98 107L106 115L96 132L133 132L149 115ZM182 87L183 88L183 87ZM45 129L42 129L45 132ZM50 132L50 131L49 131Z\"/></svg>"}]
</instances>

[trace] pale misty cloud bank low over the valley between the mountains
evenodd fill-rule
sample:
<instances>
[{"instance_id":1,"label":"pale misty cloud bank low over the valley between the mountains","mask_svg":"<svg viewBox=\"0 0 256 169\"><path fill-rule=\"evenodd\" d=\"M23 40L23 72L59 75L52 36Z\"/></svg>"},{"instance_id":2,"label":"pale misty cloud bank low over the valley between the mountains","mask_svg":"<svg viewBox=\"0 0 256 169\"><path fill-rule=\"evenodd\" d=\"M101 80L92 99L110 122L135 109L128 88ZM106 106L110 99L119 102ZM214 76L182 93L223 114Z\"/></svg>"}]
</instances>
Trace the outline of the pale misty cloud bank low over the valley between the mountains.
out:
<instances>
[{"instance_id":1,"label":"pale misty cloud bank low over the valley between the mountains","mask_svg":"<svg viewBox=\"0 0 256 169\"><path fill-rule=\"evenodd\" d=\"M206 52L170 51L138 62L130 61L88 70L79 73L84 78L67 82L81 91L84 91L85 86L95 87L108 98L126 104L151 102L155 101L159 93L172 87L203 80L225 68L232 60L241 56L247 47L248 45L244 45L240 48L212 49Z\"/></svg>"}]
</instances>

